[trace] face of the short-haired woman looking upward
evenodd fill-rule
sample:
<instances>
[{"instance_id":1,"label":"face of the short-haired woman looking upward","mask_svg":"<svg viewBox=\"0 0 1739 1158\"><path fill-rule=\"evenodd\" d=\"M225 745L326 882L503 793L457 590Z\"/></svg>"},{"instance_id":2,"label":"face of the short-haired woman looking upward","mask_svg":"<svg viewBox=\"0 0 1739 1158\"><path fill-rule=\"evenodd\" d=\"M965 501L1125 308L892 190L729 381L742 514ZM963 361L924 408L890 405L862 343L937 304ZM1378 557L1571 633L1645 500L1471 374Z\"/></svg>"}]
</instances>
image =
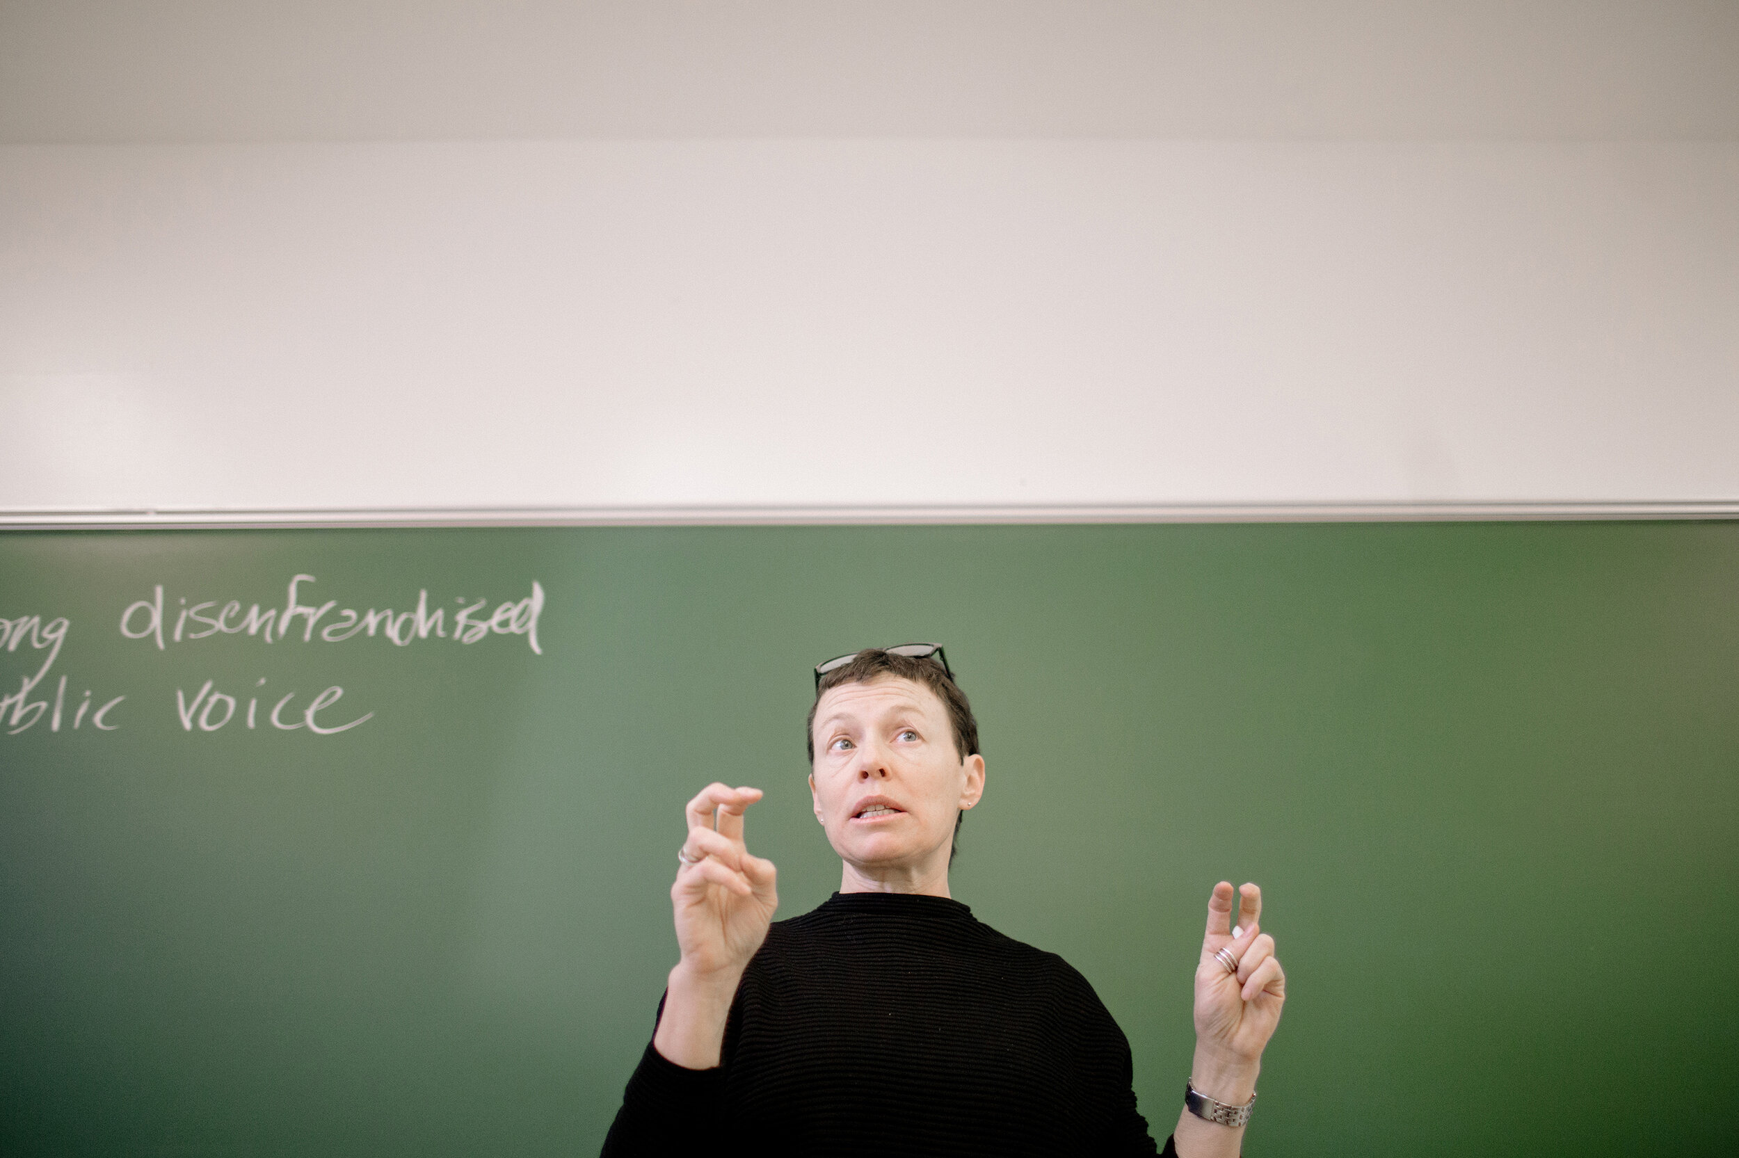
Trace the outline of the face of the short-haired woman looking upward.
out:
<instances>
[{"instance_id":1,"label":"face of the short-haired woman looking upward","mask_svg":"<svg viewBox=\"0 0 1739 1158\"><path fill-rule=\"evenodd\" d=\"M816 815L840 857L861 873L948 869L955 817L984 793L984 758L965 760L941 697L882 676L830 689L816 708Z\"/></svg>"}]
</instances>

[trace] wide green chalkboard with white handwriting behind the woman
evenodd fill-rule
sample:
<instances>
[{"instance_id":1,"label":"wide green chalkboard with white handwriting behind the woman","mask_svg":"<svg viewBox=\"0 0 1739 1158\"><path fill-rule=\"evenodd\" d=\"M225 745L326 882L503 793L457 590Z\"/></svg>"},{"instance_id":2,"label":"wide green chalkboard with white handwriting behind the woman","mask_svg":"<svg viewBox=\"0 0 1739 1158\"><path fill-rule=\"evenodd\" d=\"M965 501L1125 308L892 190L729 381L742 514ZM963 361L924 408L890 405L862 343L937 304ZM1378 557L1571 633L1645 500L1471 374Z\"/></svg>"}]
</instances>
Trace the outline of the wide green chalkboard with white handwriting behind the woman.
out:
<instances>
[{"instance_id":1,"label":"wide green chalkboard with white handwriting behind the woman","mask_svg":"<svg viewBox=\"0 0 1739 1158\"><path fill-rule=\"evenodd\" d=\"M955 895L1158 1137L1223 876L1252 1153L1739 1137L1739 523L17 532L0 619L7 1155L591 1153L683 800L823 901L809 669L906 640L983 725Z\"/></svg>"}]
</instances>

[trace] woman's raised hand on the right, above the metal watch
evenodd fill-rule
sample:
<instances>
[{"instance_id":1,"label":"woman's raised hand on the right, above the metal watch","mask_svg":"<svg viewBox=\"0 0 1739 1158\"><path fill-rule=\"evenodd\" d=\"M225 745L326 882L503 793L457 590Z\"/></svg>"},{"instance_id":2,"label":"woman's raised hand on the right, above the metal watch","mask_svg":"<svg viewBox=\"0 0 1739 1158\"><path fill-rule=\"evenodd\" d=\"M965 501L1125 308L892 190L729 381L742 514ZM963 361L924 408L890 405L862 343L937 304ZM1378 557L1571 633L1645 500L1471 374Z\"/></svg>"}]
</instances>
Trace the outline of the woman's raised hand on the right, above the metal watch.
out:
<instances>
[{"instance_id":1,"label":"woman's raised hand on the right, above the metal watch","mask_svg":"<svg viewBox=\"0 0 1739 1158\"><path fill-rule=\"evenodd\" d=\"M1238 888L1238 928L1233 928L1231 882L1214 885L1196 965L1198 1054L1205 1050L1226 1062L1254 1064L1280 1024L1287 975L1275 956L1275 939L1261 930L1261 918L1263 890L1243 885ZM1223 958L1236 962L1236 972L1226 968Z\"/></svg>"}]
</instances>

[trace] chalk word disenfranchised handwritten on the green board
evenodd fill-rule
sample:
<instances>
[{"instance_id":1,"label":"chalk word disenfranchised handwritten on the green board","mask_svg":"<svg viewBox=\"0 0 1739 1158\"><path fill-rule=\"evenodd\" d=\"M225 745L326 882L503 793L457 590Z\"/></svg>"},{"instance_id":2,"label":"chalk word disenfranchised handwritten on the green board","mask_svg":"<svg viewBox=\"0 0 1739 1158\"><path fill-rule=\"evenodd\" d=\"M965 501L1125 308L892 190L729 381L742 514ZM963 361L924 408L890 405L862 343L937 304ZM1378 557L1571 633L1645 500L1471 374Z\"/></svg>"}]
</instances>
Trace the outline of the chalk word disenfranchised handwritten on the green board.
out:
<instances>
[{"instance_id":1,"label":"chalk word disenfranchised handwritten on the green board","mask_svg":"<svg viewBox=\"0 0 1739 1158\"><path fill-rule=\"evenodd\" d=\"M297 591L297 586L303 582L315 582L315 577L292 577L283 607L266 607L264 610L261 610L259 603L254 603L243 612L240 600L202 600L190 603L186 596L181 596L179 614L174 616L174 628L167 628L165 624L163 584L157 584L151 598L129 603L127 610L120 614L120 633L129 640L153 638L158 650L163 650L167 643L203 640L219 633L237 635L242 631L259 635L266 643L271 643L273 640L289 636L299 626L303 643L313 643L315 628L320 626L327 612L337 607L337 600L327 600L320 605L303 603L303 595ZM431 635L456 643L476 643L490 633L523 635L530 649L543 656L543 647L537 643L537 617L543 614L544 589L536 579L532 581L530 595L522 600L497 603L487 619L480 617L483 609L489 607L487 598L471 602L461 595L454 602L459 607L452 614L452 635L447 635L447 609L436 607L430 610L430 593L424 588L417 591L417 605L412 610L393 612L391 607L386 610L370 607L365 612L358 612L344 607L332 621L320 628L320 638L325 643L341 643L358 633L367 633L372 638L379 631L398 647L409 647L414 640L426 640ZM296 619L303 622L297 624Z\"/></svg>"}]
</instances>

